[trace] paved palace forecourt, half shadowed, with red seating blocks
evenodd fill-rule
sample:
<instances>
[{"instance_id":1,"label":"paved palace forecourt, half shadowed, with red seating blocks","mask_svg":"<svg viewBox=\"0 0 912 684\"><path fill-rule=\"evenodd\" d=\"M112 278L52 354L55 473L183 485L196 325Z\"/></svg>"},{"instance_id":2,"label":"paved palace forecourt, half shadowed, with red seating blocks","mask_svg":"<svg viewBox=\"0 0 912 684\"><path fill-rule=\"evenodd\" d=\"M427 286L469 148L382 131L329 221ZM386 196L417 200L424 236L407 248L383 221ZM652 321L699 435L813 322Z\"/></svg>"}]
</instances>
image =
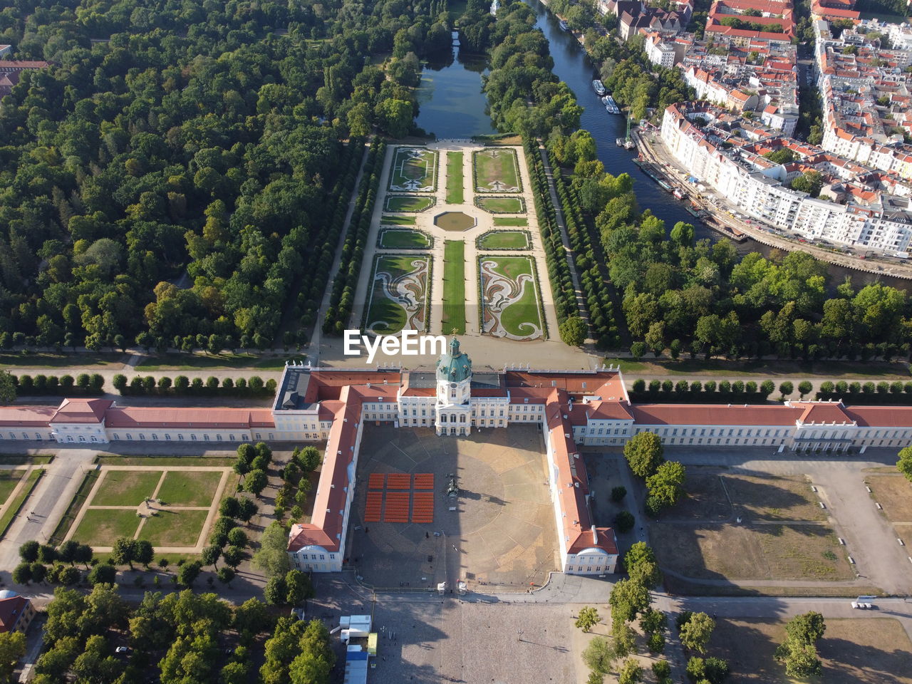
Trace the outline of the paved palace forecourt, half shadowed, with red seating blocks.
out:
<instances>
[{"instance_id":1,"label":"paved palace forecourt, half shadowed, with red seating blocks","mask_svg":"<svg viewBox=\"0 0 912 684\"><path fill-rule=\"evenodd\" d=\"M476 591L516 589L542 585L557 568L554 508L537 428L456 438L431 429L366 426L362 439L349 554L364 583L428 589L463 580ZM369 476L378 473L388 481L391 473L433 475L432 522L365 523ZM447 493L451 477L460 490L455 497ZM414 511L418 499L411 493Z\"/></svg>"}]
</instances>

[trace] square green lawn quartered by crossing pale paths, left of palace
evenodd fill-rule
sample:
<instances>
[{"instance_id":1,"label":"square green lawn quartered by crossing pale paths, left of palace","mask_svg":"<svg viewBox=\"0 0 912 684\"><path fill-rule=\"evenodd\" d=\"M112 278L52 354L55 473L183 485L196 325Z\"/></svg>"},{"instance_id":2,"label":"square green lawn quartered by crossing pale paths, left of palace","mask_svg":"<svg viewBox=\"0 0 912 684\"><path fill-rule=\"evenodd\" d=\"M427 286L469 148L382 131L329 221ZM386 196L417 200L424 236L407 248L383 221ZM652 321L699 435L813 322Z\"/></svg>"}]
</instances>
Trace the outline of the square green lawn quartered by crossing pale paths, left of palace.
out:
<instances>
[{"instance_id":1,"label":"square green lawn quartered by crossing pale paths, left of palace","mask_svg":"<svg viewBox=\"0 0 912 684\"><path fill-rule=\"evenodd\" d=\"M98 553L120 537L199 552L231 476L223 467L101 465L66 539Z\"/></svg>"}]
</instances>

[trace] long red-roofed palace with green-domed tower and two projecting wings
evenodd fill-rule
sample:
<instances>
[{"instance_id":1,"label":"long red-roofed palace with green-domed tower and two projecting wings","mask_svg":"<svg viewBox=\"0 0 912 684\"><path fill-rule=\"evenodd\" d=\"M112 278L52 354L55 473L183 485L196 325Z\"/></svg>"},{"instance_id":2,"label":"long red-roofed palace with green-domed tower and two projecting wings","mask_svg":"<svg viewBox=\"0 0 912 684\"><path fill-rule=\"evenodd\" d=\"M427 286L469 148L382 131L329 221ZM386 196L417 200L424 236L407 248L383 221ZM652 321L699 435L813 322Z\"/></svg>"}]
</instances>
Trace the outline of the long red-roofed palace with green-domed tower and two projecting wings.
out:
<instances>
[{"instance_id":1,"label":"long red-roofed palace with green-domed tower and two projecting wings","mask_svg":"<svg viewBox=\"0 0 912 684\"><path fill-rule=\"evenodd\" d=\"M59 407L0 408L4 440L92 445L118 441L198 441L226 448L244 441L326 442L310 523L293 525L296 567L340 570L346 555L358 451L365 424L435 430L441 437L510 424L538 426L562 570L613 573L617 543L589 511L583 447L621 447L638 432L664 444L778 451L862 452L912 441L912 407L783 404L633 404L617 368L472 370L454 337L434 370L286 365L271 409L119 407L109 399L64 399Z\"/></svg>"}]
</instances>

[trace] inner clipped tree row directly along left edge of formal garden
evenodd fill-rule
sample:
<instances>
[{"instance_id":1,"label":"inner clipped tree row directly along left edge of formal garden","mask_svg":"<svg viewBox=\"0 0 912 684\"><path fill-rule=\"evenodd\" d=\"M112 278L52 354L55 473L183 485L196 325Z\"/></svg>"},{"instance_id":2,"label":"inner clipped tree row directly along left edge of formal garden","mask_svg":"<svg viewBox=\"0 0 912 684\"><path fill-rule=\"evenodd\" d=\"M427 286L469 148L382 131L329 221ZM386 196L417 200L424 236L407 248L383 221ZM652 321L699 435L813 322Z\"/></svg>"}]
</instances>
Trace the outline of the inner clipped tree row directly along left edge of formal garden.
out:
<instances>
[{"instance_id":1,"label":"inner clipped tree row directly along left edge of formal garden","mask_svg":"<svg viewBox=\"0 0 912 684\"><path fill-rule=\"evenodd\" d=\"M335 334L341 337L348 316L351 315L355 290L358 287L358 275L361 273L361 262L364 259L364 248L370 233L370 219L374 212L374 203L377 202L386 149L385 141L374 140L368 152L355 211L352 212L345 244L342 245L339 271L333 280L329 308L326 309L326 317L323 319L323 332L327 335Z\"/></svg>"}]
</instances>

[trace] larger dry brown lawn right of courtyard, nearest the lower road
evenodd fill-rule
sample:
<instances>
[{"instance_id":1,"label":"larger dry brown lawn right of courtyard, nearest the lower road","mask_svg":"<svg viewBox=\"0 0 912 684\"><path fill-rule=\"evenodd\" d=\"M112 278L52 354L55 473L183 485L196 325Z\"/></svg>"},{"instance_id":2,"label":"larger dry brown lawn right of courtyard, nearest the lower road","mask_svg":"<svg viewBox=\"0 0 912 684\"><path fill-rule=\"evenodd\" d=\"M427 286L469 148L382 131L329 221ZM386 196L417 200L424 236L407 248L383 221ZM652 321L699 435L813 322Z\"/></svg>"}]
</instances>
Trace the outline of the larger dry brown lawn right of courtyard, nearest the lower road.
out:
<instances>
[{"instance_id":1,"label":"larger dry brown lawn right of courtyard, nearest the lower road","mask_svg":"<svg viewBox=\"0 0 912 684\"><path fill-rule=\"evenodd\" d=\"M658 564L695 579L854 579L845 548L825 524L652 523ZM706 586L707 594L713 593Z\"/></svg>"}]
</instances>

